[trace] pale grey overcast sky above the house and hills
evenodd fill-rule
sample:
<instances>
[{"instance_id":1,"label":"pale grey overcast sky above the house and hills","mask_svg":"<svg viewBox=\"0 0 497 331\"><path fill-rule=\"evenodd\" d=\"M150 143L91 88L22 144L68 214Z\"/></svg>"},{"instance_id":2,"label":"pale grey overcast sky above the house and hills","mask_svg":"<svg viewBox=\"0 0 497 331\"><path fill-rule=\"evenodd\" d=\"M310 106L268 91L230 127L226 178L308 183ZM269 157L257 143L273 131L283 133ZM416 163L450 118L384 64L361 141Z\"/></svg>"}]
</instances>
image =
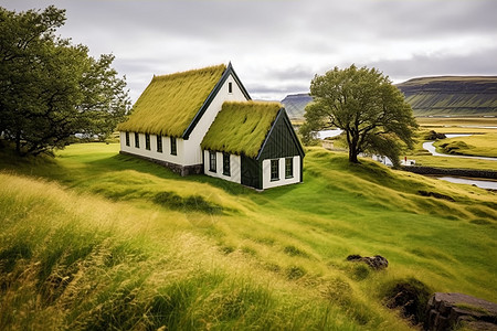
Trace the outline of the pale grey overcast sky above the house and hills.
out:
<instances>
[{"instance_id":1,"label":"pale grey overcast sky above the house and hills","mask_svg":"<svg viewBox=\"0 0 497 331\"><path fill-rule=\"evenodd\" d=\"M154 74L230 61L254 99L308 92L352 63L394 83L497 75L495 0L0 0L49 4L67 10L62 36L116 56L134 100Z\"/></svg>"}]
</instances>

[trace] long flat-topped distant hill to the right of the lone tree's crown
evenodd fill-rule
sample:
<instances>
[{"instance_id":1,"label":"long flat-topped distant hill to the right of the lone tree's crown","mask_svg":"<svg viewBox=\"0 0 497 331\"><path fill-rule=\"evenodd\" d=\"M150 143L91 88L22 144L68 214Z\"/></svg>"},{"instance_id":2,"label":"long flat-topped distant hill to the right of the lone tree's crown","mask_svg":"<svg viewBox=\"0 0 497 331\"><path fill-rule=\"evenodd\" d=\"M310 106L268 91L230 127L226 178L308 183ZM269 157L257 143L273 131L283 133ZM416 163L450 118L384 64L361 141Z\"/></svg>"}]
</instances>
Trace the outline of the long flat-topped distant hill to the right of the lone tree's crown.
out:
<instances>
[{"instance_id":1,"label":"long flat-topped distant hill to the right of the lone tree's crown","mask_svg":"<svg viewBox=\"0 0 497 331\"><path fill-rule=\"evenodd\" d=\"M440 76L396 85L415 116L497 115L497 76Z\"/></svg>"}]
</instances>

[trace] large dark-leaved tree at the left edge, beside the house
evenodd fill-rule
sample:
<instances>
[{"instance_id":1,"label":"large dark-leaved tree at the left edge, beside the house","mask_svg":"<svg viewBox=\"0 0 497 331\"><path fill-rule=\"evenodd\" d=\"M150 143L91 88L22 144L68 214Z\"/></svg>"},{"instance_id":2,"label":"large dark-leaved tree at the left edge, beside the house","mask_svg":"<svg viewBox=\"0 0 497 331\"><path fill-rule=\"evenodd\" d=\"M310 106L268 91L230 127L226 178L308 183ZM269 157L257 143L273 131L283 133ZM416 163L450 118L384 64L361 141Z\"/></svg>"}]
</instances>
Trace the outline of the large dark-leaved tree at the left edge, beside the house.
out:
<instances>
[{"instance_id":1,"label":"large dark-leaved tree at the left edge, beside the house","mask_svg":"<svg viewBox=\"0 0 497 331\"><path fill-rule=\"evenodd\" d=\"M55 35L65 11L0 7L0 135L19 153L63 148L74 135L106 138L129 109L114 55L88 55Z\"/></svg>"}]
</instances>

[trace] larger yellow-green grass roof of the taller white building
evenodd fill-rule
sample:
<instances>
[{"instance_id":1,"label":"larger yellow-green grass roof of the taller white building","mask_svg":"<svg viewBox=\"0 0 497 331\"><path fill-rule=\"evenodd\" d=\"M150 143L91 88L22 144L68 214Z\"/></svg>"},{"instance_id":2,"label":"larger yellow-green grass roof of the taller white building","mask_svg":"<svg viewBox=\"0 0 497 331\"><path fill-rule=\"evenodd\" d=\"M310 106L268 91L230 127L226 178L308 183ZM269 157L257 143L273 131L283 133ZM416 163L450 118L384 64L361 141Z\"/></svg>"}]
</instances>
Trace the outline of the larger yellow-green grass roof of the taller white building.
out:
<instances>
[{"instance_id":1,"label":"larger yellow-green grass roof of the taller white building","mask_svg":"<svg viewBox=\"0 0 497 331\"><path fill-rule=\"evenodd\" d=\"M225 70L222 64L154 76L118 130L181 137Z\"/></svg>"}]
</instances>

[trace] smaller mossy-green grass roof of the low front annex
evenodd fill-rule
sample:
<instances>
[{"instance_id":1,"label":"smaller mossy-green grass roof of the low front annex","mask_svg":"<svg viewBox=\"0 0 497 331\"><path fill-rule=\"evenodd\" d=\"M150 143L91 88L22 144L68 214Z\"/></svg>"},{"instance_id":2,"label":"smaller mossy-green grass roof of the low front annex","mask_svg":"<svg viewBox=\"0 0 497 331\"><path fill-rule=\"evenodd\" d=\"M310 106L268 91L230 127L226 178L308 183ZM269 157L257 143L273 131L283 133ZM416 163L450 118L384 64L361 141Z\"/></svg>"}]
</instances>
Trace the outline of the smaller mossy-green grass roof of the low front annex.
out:
<instances>
[{"instance_id":1,"label":"smaller mossy-green grass roof of the low front annex","mask_svg":"<svg viewBox=\"0 0 497 331\"><path fill-rule=\"evenodd\" d=\"M201 146L255 158L281 108L279 103L224 103Z\"/></svg>"}]
</instances>

